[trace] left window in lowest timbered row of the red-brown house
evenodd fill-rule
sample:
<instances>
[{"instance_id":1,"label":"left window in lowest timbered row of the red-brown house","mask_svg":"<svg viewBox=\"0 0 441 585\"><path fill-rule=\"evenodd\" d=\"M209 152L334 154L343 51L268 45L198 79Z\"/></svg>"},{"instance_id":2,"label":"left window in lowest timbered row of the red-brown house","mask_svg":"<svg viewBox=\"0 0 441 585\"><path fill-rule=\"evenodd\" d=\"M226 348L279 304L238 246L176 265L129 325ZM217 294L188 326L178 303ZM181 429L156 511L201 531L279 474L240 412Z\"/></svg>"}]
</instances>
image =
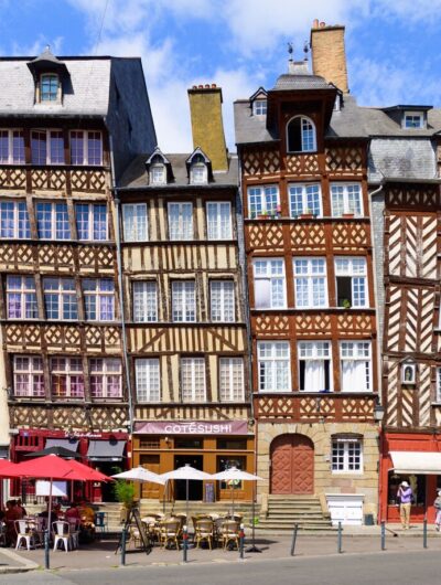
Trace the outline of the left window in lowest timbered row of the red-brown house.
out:
<instances>
[{"instance_id":1,"label":"left window in lowest timbered row of the red-brown house","mask_svg":"<svg viewBox=\"0 0 441 585\"><path fill-rule=\"evenodd\" d=\"M291 369L288 341L258 341L259 392L290 392Z\"/></svg>"}]
</instances>

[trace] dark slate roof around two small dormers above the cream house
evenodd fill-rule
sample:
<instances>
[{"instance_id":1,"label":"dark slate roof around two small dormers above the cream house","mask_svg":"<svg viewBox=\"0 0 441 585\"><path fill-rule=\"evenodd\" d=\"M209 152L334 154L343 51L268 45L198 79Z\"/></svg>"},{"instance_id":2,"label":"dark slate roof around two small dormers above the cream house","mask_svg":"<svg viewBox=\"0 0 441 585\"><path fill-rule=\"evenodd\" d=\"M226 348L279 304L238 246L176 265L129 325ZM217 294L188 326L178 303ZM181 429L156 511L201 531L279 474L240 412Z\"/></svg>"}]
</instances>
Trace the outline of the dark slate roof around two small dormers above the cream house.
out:
<instances>
[{"instance_id":1,"label":"dark slate roof around two small dormers above the cream house","mask_svg":"<svg viewBox=\"0 0 441 585\"><path fill-rule=\"evenodd\" d=\"M189 187L189 173L186 161L189 159L189 153L183 155L164 155L170 161L174 180L166 185L149 185L149 178L146 170L146 161L149 159L150 155L139 155L135 160L129 164L127 170L121 177L121 180L118 182L119 189L166 189L166 188L182 188ZM226 172L214 172L213 181L209 181L204 185L191 185L192 189L207 189L215 187L232 187L237 185L238 181L238 167L237 167L237 157L235 155L228 156L228 170Z\"/></svg>"}]
</instances>

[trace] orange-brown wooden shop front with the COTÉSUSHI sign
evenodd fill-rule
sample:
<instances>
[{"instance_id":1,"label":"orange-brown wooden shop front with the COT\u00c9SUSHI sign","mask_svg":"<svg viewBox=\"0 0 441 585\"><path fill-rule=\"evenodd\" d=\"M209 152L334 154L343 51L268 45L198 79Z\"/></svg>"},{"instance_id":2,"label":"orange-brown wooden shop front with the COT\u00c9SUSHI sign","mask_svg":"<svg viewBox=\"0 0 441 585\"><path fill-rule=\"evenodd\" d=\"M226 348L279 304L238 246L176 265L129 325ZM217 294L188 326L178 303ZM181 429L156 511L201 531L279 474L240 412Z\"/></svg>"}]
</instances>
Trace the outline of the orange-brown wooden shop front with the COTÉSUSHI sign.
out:
<instances>
[{"instance_id":1,"label":"orange-brown wooden shop front with the COT\u00c9SUSHI sign","mask_svg":"<svg viewBox=\"0 0 441 585\"><path fill-rule=\"evenodd\" d=\"M207 474L238 467L254 474L254 434L246 421L204 422L138 422L132 439L133 467L141 465L164 474L189 464ZM250 501L250 481L190 481L189 499L214 502ZM139 488L143 499L165 501L185 499L185 481L169 481L165 486L144 483Z\"/></svg>"}]
</instances>

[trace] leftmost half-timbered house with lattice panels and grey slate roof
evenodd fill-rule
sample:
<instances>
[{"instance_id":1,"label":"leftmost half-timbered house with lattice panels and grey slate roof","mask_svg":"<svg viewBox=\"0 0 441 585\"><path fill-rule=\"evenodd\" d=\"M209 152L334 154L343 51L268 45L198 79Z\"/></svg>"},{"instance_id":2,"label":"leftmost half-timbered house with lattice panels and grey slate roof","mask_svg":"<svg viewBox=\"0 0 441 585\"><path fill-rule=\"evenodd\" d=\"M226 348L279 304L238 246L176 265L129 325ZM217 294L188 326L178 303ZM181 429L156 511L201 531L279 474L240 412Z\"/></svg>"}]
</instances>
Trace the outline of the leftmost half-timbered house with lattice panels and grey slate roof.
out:
<instances>
[{"instance_id":1,"label":"leftmost half-timbered house with lattice panels and grey slate roof","mask_svg":"<svg viewBox=\"0 0 441 585\"><path fill-rule=\"evenodd\" d=\"M12 459L64 444L105 471L126 467L111 185L155 143L141 63L46 50L2 57L0 79L1 370Z\"/></svg>"}]
</instances>

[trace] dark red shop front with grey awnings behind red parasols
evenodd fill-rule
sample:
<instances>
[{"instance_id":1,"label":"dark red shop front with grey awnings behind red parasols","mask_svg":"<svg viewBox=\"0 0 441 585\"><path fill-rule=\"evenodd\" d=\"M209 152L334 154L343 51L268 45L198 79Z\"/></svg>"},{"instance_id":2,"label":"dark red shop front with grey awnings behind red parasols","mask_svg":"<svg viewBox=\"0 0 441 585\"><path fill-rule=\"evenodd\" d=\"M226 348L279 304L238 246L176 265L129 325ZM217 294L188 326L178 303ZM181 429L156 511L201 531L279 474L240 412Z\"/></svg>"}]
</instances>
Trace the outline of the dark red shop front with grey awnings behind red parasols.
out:
<instances>
[{"instance_id":1,"label":"dark red shop front with grey awnings behind red parasols","mask_svg":"<svg viewBox=\"0 0 441 585\"><path fill-rule=\"evenodd\" d=\"M25 461L33 453L49 447L64 447L78 456L78 460L106 475L128 469L129 435L122 432L82 433L45 429L20 429L11 440L11 460ZM33 480L11 481L11 496L39 501ZM73 481L68 485L68 499L92 502L115 501L111 483Z\"/></svg>"}]
</instances>

